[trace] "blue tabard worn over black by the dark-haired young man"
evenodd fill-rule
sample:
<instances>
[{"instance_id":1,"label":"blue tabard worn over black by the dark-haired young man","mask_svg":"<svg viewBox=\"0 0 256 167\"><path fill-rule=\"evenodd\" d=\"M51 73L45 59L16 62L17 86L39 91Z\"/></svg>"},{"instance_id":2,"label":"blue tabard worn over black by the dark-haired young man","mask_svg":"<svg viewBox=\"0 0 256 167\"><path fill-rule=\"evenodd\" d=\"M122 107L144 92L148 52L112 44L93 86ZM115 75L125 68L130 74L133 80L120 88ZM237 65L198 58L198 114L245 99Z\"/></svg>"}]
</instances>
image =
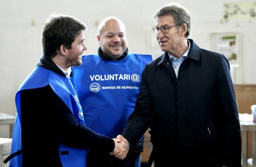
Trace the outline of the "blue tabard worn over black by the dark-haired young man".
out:
<instances>
[{"instance_id":1,"label":"blue tabard worn over black by the dark-haired young man","mask_svg":"<svg viewBox=\"0 0 256 167\"><path fill-rule=\"evenodd\" d=\"M21 112L26 111L21 111L20 91L25 89L40 88L47 85L50 85L53 91L63 100L70 111L74 114L77 121L84 125L83 112L77 98L74 78L65 78L42 67L35 67L30 75L20 85L15 97L17 117L14 124L11 154L15 152L19 153L10 160L10 167L22 166ZM63 151L68 151L68 155L61 155ZM59 154L62 165L64 167L84 167L86 165L87 151L88 150L69 147L61 142Z\"/></svg>"}]
</instances>

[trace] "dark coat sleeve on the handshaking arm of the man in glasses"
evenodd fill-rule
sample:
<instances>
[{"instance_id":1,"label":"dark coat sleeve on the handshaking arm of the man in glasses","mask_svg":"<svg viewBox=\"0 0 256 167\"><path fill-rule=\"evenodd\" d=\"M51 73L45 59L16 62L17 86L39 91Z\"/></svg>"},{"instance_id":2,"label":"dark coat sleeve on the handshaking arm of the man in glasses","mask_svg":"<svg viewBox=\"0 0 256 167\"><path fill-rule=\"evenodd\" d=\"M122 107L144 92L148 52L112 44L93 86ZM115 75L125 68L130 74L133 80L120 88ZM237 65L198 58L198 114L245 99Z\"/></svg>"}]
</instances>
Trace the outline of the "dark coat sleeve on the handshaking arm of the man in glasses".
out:
<instances>
[{"instance_id":1,"label":"dark coat sleeve on the handshaking arm of the man in glasses","mask_svg":"<svg viewBox=\"0 0 256 167\"><path fill-rule=\"evenodd\" d=\"M147 80L148 65L142 72L140 93L137 96L135 109L129 116L122 136L124 136L134 148L141 136L149 128L153 121L153 108L150 88Z\"/></svg>"}]
</instances>

